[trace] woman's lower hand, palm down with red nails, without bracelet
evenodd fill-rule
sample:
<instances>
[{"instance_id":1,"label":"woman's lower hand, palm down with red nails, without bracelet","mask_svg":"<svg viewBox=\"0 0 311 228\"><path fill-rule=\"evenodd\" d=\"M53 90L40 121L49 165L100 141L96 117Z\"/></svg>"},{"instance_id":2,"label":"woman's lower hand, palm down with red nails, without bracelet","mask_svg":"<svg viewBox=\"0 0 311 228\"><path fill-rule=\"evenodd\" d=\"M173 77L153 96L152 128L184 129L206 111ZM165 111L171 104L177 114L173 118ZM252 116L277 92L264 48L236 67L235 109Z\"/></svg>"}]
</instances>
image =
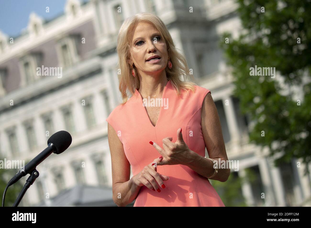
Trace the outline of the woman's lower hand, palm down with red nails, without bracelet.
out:
<instances>
[{"instance_id":1,"label":"woman's lower hand, palm down with red nails, without bracelet","mask_svg":"<svg viewBox=\"0 0 311 228\"><path fill-rule=\"evenodd\" d=\"M146 165L140 173L133 177L134 183L137 186L146 186L150 190L157 190L158 192L161 191L159 186L165 188L163 181L167 181L169 177L156 172L156 163L162 161L162 159L163 157L156 158L153 160L153 162Z\"/></svg>"}]
</instances>

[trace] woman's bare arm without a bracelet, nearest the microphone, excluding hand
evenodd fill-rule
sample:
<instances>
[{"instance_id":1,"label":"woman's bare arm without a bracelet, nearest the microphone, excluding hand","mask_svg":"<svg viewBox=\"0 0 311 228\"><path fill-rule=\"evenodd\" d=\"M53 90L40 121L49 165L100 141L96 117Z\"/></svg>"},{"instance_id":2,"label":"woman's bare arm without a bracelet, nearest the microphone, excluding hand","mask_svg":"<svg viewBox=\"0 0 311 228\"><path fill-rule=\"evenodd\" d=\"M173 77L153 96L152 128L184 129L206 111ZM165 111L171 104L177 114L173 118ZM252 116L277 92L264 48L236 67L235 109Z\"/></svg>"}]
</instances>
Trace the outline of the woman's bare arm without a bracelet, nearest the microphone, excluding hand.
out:
<instances>
[{"instance_id":1,"label":"woman's bare arm without a bracelet, nearest the microphone, excluding hand","mask_svg":"<svg viewBox=\"0 0 311 228\"><path fill-rule=\"evenodd\" d=\"M123 144L109 123L108 142L112 166L112 198L118 207L125 207L136 199L140 186L130 179L130 163L125 156Z\"/></svg>"}]
</instances>

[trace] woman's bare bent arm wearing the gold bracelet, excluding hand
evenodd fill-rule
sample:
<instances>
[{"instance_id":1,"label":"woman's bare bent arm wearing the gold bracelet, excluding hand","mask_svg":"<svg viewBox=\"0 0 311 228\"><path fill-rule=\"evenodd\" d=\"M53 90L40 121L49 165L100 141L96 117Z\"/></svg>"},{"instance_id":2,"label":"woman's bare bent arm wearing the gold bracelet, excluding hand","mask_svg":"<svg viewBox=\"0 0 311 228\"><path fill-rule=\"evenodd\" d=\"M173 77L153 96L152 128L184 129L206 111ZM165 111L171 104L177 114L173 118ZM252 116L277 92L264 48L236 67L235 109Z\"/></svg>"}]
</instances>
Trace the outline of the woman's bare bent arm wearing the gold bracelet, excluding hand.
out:
<instances>
[{"instance_id":1,"label":"woman's bare bent arm wearing the gold bracelet, excluding hand","mask_svg":"<svg viewBox=\"0 0 311 228\"><path fill-rule=\"evenodd\" d=\"M220 161L227 161L228 157L221 131L220 119L211 93L208 93L204 98L201 117L202 134L209 158L214 159L217 163L219 158ZM191 154L191 162L187 164L189 168L205 177L210 177L214 174L213 162L210 159L206 159L193 151ZM229 168L221 169L220 165L218 165L217 174L210 179L225 182L228 180L229 175Z\"/></svg>"}]
</instances>

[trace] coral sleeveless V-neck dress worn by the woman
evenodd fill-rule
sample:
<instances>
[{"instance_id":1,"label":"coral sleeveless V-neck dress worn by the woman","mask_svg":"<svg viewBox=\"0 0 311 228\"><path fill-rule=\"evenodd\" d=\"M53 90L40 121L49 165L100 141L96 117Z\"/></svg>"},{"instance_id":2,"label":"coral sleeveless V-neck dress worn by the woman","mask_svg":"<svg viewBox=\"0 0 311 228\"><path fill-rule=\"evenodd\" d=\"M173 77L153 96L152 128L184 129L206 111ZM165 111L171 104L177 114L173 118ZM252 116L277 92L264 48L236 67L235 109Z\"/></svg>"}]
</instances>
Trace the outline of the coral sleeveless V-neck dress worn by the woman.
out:
<instances>
[{"instance_id":1,"label":"coral sleeveless V-neck dress worn by the woman","mask_svg":"<svg viewBox=\"0 0 311 228\"><path fill-rule=\"evenodd\" d=\"M195 85L195 92L189 90L177 96L169 80L163 91L163 102L156 126L143 105L142 96L135 91L125 105L117 106L106 121L118 133L125 155L131 164L132 174L142 171L144 166L160 156L149 141L155 141L162 149L162 139L177 140L177 129L182 127L183 139L189 149L205 156L205 142L201 129L201 108L210 91ZM166 99L167 98L167 99ZM134 207L224 207L216 190L206 177L185 165L159 165L157 172L169 176L161 192L142 186Z\"/></svg>"}]
</instances>

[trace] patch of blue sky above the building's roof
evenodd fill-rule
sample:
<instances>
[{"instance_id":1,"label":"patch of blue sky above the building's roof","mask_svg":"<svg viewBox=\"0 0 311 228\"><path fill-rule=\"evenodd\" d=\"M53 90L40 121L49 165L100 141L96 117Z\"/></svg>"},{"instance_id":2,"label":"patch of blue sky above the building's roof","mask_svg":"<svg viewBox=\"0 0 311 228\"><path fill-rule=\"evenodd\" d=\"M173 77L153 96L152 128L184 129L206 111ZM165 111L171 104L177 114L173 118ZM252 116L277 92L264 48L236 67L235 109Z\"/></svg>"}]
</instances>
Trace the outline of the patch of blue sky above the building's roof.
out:
<instances>
[{"instance_id":1,"label":"patch of blue sky above the building's roof","mask_svg":"<svg viewBox=\"0 0 311 228\"><path fill-rule=\"evenodd\" d=\"M0 30L9 37L16 37L27 27L31 12L50 20L64 12L66 2L67 0L0 0ZM45 7L49 7L49 13L45 12Z\"/></svg>"}]
</instances>

